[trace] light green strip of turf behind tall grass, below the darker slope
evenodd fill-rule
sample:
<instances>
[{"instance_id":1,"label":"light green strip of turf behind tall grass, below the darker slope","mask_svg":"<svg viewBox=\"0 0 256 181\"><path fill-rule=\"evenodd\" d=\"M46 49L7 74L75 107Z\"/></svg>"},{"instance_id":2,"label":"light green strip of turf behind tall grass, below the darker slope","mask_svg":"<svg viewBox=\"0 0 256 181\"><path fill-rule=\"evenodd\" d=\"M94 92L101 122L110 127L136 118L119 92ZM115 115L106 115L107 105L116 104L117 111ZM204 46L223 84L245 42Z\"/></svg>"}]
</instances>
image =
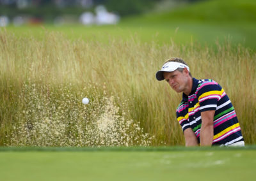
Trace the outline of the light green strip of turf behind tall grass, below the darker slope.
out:
<instances>
[{"instance_id":1,"label":"light green strip of turf behind tall grass, below the darker slope","mask_svg":"<svg viewBox=\"0 0 256 181\"><path fill-rule=\"evenodd\" d=\"M231 40L234 47L241 44L244 47L256 48L256 43L252 38L255 36L256 26L243 22L239 24L212 24L180 21L169 24L136 24L136 22L131 21L103 27L84 27L82 25L55 27L53 25L44 25L44 27L23 26L18 28L7 27L6 29L18 36L34 35L37 38L44 37L46 29L47 31L61 32L72 40L80 38L83 40L97 40L104 43L113 38L129 40L131 36L136 34L136 38L140 41L147 43L156 41L159 45L174 41L179 45L198 42L202 45L215 47L216 41L223 43Z\"/></svg>"}]
</instances>

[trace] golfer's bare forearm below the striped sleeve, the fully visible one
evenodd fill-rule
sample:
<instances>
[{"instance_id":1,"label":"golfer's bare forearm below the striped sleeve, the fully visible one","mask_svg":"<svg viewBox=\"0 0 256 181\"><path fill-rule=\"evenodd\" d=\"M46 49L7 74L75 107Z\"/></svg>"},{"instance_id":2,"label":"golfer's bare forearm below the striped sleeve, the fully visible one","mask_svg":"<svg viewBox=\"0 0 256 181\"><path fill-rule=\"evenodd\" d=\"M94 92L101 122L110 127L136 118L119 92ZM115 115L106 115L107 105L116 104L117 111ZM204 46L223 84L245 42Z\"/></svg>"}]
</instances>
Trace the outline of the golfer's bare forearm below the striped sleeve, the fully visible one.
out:
<instances>
[{"instance_id":1,"label":"golfer's bare forearm below the striped sleeve, the fully visible one","mask_svg":"<svg viewBox=\"0 0 256 181\"><path fill-rule=\"evenodd\" d=\"M201 146L211 146L213 140L213 119L214 110L209 110L201 113L202 125L200 130Z\"/></svg>"}]
</instances>

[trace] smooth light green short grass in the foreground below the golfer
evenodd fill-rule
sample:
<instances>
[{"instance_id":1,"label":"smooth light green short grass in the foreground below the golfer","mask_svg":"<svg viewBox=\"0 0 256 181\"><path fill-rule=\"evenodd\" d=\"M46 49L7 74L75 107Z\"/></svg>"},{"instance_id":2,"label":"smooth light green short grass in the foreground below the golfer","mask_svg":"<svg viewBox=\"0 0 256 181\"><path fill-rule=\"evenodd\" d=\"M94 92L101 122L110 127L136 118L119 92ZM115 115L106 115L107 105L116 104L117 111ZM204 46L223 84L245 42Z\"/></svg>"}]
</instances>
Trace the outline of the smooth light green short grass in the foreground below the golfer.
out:
<instances>
[{"instance_id":1,"label":"smooth light green short grass in the foreground below the golfer","mask_svg":"<svg viewBox=\"0 0 256 181\"><path fill-rule=\"evenodd\" d=\"M1 148L1 180L252 180L255 147Z\"/></svg>"}]
</instances>

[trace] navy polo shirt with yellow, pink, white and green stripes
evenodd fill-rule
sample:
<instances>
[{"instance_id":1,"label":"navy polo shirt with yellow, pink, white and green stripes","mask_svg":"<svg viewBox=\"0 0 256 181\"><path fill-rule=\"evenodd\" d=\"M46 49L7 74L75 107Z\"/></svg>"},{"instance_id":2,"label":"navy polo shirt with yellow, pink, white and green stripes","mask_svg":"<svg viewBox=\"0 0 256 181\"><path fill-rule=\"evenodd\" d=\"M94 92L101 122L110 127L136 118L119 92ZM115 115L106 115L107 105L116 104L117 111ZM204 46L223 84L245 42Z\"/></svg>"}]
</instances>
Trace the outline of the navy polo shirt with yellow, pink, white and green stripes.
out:
<instances>
[{"instance_id":1,"label":"navy polo shirt with yellow, pink, white and green stripes","mask_svg":"<svg viewBox=\"0 0 256 181\"><path fill-rule=\"evenodd\" d=\"M183 93L182 101L176 110L177 120L182 130L191 129L200 143L201 112L215 110L214 136L212 145L230 145L243 141L241 127L234 107L222 87L211 79L193 78L189 96Z\"/></svg>"}]
</instances>

